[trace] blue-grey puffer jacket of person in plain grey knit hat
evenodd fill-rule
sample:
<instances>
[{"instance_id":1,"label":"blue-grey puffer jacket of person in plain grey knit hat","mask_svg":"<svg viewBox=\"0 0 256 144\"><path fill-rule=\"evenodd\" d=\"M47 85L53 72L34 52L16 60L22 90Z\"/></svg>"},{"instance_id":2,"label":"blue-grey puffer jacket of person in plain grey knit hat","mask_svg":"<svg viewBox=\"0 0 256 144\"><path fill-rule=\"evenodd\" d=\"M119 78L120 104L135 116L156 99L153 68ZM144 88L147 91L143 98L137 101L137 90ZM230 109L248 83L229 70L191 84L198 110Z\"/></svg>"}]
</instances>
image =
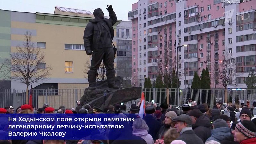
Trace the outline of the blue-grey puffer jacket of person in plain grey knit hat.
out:
<instances>
[{"instance_id":1,"label":"blue-grey puffer jacket of person in plain grey knit hat","mask_svg":"<svg viewBox=\"0 0 256 144\"><path fill-rule=\"evenodd\" d=\"M228 127L220 127L217 129L213 129L211 131L211 137L208 138L206 141L215 140L221 142L221 140L223 140L226 137L229 137L230 135L230 129Z\"/></svg>"}]
</instances>

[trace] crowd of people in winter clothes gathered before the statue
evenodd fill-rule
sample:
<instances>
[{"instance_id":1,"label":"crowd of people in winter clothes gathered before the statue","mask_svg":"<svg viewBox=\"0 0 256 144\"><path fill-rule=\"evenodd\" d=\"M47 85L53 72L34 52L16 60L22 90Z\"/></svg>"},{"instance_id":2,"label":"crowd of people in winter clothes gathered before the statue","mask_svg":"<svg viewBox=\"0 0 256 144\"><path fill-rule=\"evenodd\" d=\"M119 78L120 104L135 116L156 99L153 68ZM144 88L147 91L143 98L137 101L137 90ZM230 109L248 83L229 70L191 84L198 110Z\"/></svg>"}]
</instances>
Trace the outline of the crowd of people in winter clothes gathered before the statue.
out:
<instances>
[{"instance_id":1,"label":"crowd of people in winter clothes gathered before the statue","mask_svg":"<svg viewBox=\"0 0 256 144\"><path fill-rule=\"evenodd\" d=\"M0 108L0 114L112 114L134 118L133 122L125 122L129 129L114 132L116 140L110 139L113 133L107 129L99 129L80 140L1 140L0 144L256 144L256 102L251 109L244 104L237 108L218 102L210 108L207 103L197 105L190 99L181 108L147 103L142 117L139 110L140 103L128 108L116 104L100 109L90 105L82 108L80 102L76 108L60 106L55 109L48 104L33 108L33 111L30 105L22 105L16 110L12 106Z\"/></svg>"}]
</instances>

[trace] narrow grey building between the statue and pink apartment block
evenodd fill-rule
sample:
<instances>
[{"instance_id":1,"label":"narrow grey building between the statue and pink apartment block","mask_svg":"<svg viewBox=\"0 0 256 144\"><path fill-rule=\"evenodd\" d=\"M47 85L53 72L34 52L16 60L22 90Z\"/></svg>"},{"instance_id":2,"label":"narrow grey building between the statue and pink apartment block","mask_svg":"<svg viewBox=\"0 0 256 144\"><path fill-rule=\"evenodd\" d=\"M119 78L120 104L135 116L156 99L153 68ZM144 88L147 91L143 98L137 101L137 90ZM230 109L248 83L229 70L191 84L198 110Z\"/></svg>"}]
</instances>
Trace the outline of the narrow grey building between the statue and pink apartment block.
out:
<instances>
[{"instance_id":1,"label":"narrow grey building between the statue and pink apartment block","mask_svg":"<svg viewBox=\"0 0 256 144\"><path fill-rule=\"evenodd\" d=\"M123 77L122 87L131 87L132 78L132 21L116 26L116 75Z\"/></svg>"}]
</instances>

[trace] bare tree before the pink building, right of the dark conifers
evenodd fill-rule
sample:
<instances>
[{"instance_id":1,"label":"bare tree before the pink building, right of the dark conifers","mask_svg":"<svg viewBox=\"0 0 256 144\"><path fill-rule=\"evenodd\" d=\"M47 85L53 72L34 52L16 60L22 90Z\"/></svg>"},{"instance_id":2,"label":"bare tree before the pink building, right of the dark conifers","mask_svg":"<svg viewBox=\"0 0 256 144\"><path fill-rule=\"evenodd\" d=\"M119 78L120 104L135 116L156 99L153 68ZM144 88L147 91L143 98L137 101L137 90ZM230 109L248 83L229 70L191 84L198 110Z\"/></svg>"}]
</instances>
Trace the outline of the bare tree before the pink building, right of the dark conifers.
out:
<instances>
[{"instance_id":1,"label":"bare tree before the pink building, right of the dark conifers","mask_svg":"<svg viewBox=\"0 0 256 144\"><path fill-rule=\"evenodd\" d=\"M233 83L233 80L238 76L236 73L236 58L225 50L222 59L214 64L214 79L225 88L225 102L227 102L227 86ZM214 82L215 82L214 81ZM216 82L215 82L216 83Z\"/></svg>"}]
</instances>

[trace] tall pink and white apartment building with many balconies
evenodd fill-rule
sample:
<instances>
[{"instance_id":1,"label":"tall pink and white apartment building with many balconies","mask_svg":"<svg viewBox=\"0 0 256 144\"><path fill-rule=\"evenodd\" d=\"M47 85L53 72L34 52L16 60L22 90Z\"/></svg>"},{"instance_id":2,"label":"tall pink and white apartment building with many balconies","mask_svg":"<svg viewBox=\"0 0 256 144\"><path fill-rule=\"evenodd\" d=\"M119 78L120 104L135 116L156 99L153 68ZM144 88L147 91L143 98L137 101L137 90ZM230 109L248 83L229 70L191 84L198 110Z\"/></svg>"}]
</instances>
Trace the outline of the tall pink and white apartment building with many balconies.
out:
<instances>
[{"instance_id":1,"label":"tall pink and white apartment building with many balconies","mask_svg":"<svg viewBox=\"0 0 256 144\"><path fill-rule=\"evenodd\" d=\"M169 61L167 69L176 71L177 47L180 89L190 87L194 73L200 76L206 67L211 87L223 88L214 65L222 62L225 52L239 73L230 79L229 88L246 88L244 80L255 71L255 0L139 0L132 4L128 19L132 20L133 86L143 86L145 77L156 80L158 72L167 68L159 66L164 60Z\"/></svg>"}]
</instances>

